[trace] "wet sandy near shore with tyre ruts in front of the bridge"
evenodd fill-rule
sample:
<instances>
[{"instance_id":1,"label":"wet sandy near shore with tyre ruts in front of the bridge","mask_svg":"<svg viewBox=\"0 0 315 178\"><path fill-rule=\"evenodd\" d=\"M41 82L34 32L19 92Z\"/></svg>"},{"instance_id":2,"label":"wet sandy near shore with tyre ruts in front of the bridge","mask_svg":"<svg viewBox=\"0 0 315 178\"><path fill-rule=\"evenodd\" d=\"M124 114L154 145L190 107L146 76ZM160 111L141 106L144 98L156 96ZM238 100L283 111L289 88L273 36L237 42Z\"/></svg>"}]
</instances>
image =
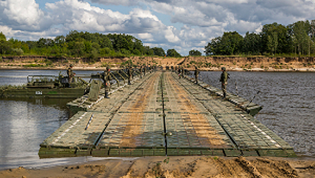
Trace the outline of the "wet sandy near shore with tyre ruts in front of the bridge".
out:
<instances>
[{"instance_id":1,"label":"wet sandy near shore with tyre ruts in front of the bridge","mask_svg":"<svg viewBox=\"0 0 315 178\"><path fill-rule=\"evenodd\" d=\"M41 169L0 171L0 177L315 177L315 159L273 157L141 157Z\"/></svg>"}]
</instances>

